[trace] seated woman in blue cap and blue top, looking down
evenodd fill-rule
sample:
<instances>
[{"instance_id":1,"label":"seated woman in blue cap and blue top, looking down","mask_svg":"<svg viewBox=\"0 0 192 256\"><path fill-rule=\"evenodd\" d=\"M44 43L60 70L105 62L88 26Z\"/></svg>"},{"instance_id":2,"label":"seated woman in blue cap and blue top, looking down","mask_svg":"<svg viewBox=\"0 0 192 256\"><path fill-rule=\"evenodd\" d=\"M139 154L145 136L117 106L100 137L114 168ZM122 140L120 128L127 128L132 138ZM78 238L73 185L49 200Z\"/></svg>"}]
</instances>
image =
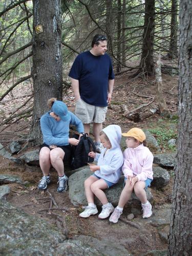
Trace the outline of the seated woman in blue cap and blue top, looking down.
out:
<instances>
[{"instance_id":1,"label":"seated woman in blue cap and blue top, looking down","mask_svg":"<svg viewBox=\"0 0 192 256\"><path fill-rule=\"evenodd\" d=\"M39 164L44 176L38 184L39 189L46 189L50 183L49 170L51 165L58 173L57 191L67 189L67 176L64 173L63 161L70 159L71 145L77 145L79 140L69 138L70 124L76 125L79 136L84 132L82 122L70 111L67 105L51 98L48 100L50 111L40 118L40 127L44 139L39 151Z\"/></svg>"}]
</instances>

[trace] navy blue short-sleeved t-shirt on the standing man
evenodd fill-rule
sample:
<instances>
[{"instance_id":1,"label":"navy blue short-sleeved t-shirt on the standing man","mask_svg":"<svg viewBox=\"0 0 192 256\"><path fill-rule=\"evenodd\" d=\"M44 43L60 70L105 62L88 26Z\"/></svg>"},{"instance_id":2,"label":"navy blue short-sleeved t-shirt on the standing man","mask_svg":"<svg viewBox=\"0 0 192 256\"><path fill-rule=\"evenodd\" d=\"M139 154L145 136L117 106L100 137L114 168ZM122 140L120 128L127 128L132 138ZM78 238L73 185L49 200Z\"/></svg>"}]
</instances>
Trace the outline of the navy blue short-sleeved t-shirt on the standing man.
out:
<instances>
[{"instance_id":1,"label":"navy blue short-sleeved t-shirt on the standing man","mask_svg":"<svg viewBox=\"0 0 192 256\"><path fill-rule=\"evenodd\" d=\"M86 103L108 105L108 82L115 77L108 54L95 56L90 51L80 53L73 62L69 76L79 80L80 97Z\"/></svg>"}]
</instances>

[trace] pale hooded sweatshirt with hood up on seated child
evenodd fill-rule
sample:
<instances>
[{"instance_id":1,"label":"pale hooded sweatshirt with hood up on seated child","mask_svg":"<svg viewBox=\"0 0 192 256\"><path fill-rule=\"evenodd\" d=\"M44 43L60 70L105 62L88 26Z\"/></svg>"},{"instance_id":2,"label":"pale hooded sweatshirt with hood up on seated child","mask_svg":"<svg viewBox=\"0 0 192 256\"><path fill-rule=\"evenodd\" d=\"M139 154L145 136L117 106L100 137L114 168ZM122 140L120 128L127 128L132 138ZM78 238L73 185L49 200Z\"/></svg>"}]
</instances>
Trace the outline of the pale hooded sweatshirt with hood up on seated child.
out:
<instances>
[{"instance_id":1,"label":"pale hooded sweatshirt with hood up on seated child","mask_svg":"<svg viewBox=\"0 0 192 256\"><path fill-rule=\"evenodd\" d=\"M100 170L96 170L95 175L117 183L121 175L121 166L123 165L123 154L120 147L121 127L116 124L111 124L102 130L108 136L112 147L104 148L101 154L96 154L95 160Z\"/></svg>"}]
</instances>

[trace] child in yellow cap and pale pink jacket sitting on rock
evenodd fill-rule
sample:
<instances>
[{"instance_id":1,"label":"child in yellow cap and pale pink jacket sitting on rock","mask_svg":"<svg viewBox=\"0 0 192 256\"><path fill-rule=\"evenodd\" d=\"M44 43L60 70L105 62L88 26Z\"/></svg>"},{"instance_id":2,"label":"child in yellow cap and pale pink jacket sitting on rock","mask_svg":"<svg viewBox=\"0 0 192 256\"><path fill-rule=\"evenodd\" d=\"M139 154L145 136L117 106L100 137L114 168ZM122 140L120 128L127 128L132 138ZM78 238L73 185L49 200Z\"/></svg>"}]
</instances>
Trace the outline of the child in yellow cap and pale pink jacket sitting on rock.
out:
<instances>
[{"instance_id":1,"label":"child in yellow cap and pale pink jacket sitting on rock","mask_svg":"<svg viewBox=\"0 0 192 256\"><path fill-rule=\"evenodd\" d=\"M152 216L152 205L147 201L145 188L151 185L153 180L153 154L144 146L146 137L139 128L132 128L122 136L126 138L127 148L123 153L124 163L122 171L125 177L125 186L121 192L118 206L110 217L110 222L117 223L122 214L123 207L131 199L134 190L141 201L143 218Z\"/></svg>"}]
</instances>

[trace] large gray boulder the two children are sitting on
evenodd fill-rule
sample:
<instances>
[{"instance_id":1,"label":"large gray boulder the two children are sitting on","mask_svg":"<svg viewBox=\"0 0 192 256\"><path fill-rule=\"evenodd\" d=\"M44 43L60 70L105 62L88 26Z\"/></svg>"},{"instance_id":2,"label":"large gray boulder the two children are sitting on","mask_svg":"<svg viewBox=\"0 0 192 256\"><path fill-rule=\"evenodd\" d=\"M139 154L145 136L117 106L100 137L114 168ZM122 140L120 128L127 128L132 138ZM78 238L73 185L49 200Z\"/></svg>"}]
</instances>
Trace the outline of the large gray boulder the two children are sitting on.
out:
<instances>
[{"instance_id":1,"label":"large gray boulder the two children are sitting on","mask_svg":"<svg viewBox=\"0 0 192 256\"><path fill-rule=\"evenodd\" d=\"M84 181L92 174L93 173L90 171L90 168L88 166L84 166L78 172L69 177L69 197L74 205L87 205L87 199L84 193ZM105 195L113 205L118 205L119 197L123 189L123 183L124 176L120 178L118 184L112 186L110 189L105 189ZM148 201L153 201L153 195L151 194L150 189L146 190L146 194ZM136 204L138 202L139 205L141 204L134 193L132 193L132 198L129 203L133 203L132 201L136 201ZM97 198L95 199L95 203L97 205L101 205L101 202Z\"/></svg>"}]
</instances>

